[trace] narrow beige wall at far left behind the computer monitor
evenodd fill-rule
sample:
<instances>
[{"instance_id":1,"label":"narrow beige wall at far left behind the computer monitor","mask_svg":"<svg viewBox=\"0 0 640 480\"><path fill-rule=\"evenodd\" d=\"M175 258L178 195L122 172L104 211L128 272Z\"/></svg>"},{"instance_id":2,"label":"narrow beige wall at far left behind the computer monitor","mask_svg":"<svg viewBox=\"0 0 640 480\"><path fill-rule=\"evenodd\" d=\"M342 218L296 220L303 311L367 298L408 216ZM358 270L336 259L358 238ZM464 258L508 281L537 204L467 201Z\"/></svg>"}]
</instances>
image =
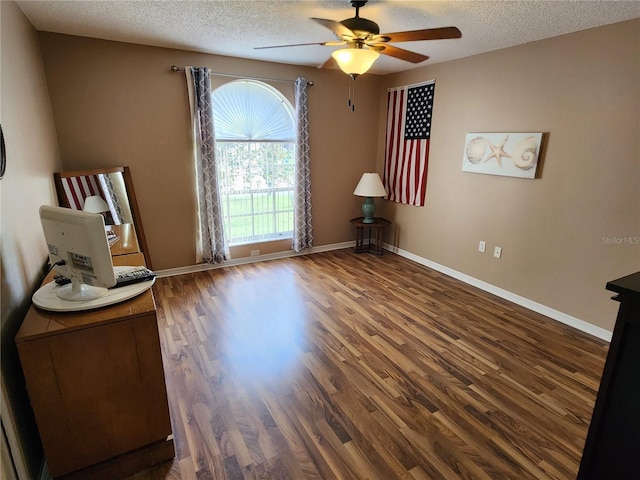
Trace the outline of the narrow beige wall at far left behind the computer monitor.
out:
<instances>
[{"instance_id":1,"label":"narrow beige wall at far left behind the computer monitor","mask_svg":"<svg viewBox=\"0 0 640 480\"><path fill-rule=\"evenodd\" d=\"M2 424L20 478L34 479L42 448L13 339L42 281L47 249L38 208L55 204L52 173L60 161L37 33L15 3L3 1L0 8L0 120L8 158L0 180Z\"/></svg>"}]
</instances>

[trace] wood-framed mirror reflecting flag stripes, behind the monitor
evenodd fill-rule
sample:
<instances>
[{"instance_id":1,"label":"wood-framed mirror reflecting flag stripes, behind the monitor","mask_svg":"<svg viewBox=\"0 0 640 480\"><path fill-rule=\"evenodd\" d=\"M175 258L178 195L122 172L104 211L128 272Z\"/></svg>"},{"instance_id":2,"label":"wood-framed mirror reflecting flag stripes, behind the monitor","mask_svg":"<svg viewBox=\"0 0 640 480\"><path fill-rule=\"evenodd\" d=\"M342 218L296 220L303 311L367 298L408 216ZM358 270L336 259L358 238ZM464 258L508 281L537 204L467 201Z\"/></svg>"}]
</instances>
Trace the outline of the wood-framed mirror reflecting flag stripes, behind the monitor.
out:
<instances>
[{"instance_id":1,"label":"wood-framed mirror reflecting flag stripes, behind the monitor","mask_svg":"<svg viewBox=\"0 0 640 480\"><path fill-rule=\"evenodd\" d=\"M153 269L129 167L56 172L53 179L61 207L105 217L113 256L142 252Z\"/></svg>"}]
</instances>

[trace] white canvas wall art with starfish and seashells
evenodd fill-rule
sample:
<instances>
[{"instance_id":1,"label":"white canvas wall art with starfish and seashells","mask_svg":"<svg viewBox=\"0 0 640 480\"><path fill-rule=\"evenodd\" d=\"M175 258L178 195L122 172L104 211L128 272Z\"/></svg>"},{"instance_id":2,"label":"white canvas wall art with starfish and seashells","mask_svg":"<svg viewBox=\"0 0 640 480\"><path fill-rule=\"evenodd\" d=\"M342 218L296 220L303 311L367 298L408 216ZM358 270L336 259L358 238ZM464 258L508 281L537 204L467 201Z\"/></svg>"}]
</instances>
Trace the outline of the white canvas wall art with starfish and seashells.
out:
<instances>
[{"instance_id":1,"label":"white canvas wall art with starfish and seashells","mask_svg":"<svg viewBox=\"0 0 640 480\"><path fill-rule=\"evenodd\" d=\"M467 133L462 171L536 178L542 133Z\"/></svg>"}]
</instances>

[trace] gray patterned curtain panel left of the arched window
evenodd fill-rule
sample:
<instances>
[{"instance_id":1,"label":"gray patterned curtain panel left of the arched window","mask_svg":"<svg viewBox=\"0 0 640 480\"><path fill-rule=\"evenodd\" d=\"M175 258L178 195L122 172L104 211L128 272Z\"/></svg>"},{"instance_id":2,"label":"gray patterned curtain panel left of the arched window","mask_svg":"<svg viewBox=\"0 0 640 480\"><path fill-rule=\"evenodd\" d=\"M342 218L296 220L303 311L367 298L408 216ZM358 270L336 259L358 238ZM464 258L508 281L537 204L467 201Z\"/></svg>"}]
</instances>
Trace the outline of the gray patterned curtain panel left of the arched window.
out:
<instances>
[{"instance_id":1,"label":"gray patterned curtain panel left of the arched window","mask_svg":"<svg viewBox=\"0 0 640 480\"><path fill-rule=\"evenodd\" d=\"M208 68L186 67L198 194L197 262L222 263L229 256L222 225Z\"/></svg>"}]
</instances>

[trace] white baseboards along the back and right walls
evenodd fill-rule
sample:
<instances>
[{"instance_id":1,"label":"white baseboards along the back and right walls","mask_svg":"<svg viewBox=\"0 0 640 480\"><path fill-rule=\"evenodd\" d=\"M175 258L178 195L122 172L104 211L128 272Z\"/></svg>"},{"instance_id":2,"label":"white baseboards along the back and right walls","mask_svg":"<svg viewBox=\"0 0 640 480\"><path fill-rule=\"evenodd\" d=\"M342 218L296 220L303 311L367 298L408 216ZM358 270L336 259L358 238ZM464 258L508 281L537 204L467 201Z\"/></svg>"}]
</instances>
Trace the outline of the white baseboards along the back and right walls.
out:
<instances>
[{"instance_id":1,"label":"white baseboards along the back and right walls","mask_svg":"<svg viewBox=\"0 0 640 480\"><path fill-rule=\"evenodd\" d=\"M247 263L262 262L266 260L276 260L278 258L297 257L300 255L308 255L310 253L340 250L342 248L353 247L354 245L355 245L354 241L333 243L330 245L323 245L321 247L311 247L302 252L294 252L293 250L287 250L285 252L258 255L256 257L244 257L244 258L238 258L235 260L231 259L231 260L225 261L224 263L215 264L215 265L204 263L199 265L191 265L188 267L169 268L166 270L156 271L156 274L158 275L158 277L170 277L172 275L183 275L186 273L202 272L205 270L229 267L233 265L243 265ZM551 307L547 307L546 305L543 305L541 303L534 302L533 300L529 300L528 298L522 297L520 295L517 295L503 288L496 287L495 285L491 285L490 283L487 283L483 280L478 280L477 278L471 277L462 272L458 272L457 270L453 270L452 268L445 267L444 265L440 265L439 263L432 262L431 260L427 260L426 258L419 257L418 255L414 255L413 253L402 250L401 248L397 248L388 244L385 244L384 247L390 252L396 253L401 257L412 260L416 263L419 263L420 265L424 265L425 267L429 267L434 270L437 270L440 273L449 275L450 277L453 277L464 283L477 287L480 290L484 290L485 292L489 292L500 298L504 298L505 300L515 303L516 305L520 305L522 307L528 308L529 310L533 310L534 312L545 315L560 323L569 325L570 327L580 330L581 332L588 333L589 335L593 335L594 337L600 338L601 340L605 340L607 342L611 341L611 336L613 332L610 332L609 330L605 330L604 328L585 322L584 320L580 320L579 318L572 317L571 315L567 315L566 313L560 312Z\"/></svg>"}]
</instances>

